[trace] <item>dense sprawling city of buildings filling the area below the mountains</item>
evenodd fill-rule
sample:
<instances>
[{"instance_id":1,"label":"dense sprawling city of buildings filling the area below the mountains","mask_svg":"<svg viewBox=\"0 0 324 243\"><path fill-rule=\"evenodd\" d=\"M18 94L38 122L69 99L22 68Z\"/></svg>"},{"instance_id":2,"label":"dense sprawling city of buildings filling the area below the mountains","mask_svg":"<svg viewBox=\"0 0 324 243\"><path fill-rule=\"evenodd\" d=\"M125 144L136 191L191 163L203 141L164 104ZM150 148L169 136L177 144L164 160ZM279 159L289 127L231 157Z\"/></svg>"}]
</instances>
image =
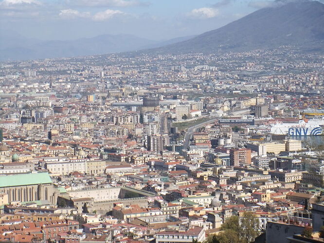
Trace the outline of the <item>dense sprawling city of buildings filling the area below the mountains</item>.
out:
<instances>
[{"instance_id":1,"label":"dense sprawling city of buildings filling the area below the mountains","mask_svg":"<svg viewBox=\"0 0 324 243\"><path fill-rule=\"evenodd\" d=\"M0 63L0 242L324 242L323 60Z\"/></svg>"}]
</instances>

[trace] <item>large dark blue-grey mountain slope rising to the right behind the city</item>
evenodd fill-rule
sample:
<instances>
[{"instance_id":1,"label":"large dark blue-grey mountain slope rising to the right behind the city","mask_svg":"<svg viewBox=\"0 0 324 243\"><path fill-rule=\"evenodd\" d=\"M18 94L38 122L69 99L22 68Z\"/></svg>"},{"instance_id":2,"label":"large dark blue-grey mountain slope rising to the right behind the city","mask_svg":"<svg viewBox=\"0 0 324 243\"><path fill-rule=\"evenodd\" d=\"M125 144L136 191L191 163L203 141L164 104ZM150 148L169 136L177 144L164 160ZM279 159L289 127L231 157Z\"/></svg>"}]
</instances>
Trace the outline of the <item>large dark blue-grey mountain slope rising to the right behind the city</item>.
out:
<instances>
[{"instance_id":1,"label":"large dark blue-grey mountain slope rising to the right behind the city","mask_svg":"<svg viewBox=\"0 0 324 243\"><path fill-rule=\"evenodd\" d=\"M318 1L275 1L219 29L151 53L248 51L294 45L324 47L324 4Z\"/></svg>"}]
</instances>

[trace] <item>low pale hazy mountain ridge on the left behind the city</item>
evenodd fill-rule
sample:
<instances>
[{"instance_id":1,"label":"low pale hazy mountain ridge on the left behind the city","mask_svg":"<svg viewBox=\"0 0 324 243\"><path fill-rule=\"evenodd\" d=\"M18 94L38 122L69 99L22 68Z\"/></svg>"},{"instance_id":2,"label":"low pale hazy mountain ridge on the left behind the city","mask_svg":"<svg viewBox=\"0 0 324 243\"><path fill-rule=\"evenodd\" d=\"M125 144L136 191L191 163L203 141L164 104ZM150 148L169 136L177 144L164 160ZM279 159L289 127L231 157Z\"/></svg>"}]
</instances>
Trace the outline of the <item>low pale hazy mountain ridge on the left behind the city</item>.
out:
<instances>
[{"instance_id":1,"label":"low pale hazy mountain ridge on the left behind the city","mask_svg":"<svg viewBox=\"0 0 324 243\"><path fill-rule=\"evenodd\" d=\"M2 32L0 60L71 57L113 52L135 51L151 47L158 41L134 35L99 35L76 40L41 41L28 39L14 32Z\"/></svg>"}]
</instances>

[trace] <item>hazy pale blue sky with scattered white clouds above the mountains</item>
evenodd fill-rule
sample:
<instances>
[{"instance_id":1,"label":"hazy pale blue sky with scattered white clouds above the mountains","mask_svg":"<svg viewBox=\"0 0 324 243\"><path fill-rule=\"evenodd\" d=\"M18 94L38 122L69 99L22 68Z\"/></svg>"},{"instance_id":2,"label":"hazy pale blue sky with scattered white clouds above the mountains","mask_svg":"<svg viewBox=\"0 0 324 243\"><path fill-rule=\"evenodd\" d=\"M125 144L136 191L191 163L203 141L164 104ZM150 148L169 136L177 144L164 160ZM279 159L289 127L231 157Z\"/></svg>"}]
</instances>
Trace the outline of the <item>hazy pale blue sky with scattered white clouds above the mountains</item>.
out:
<instances>
[{"instance_id":1,"label":"hazy pale blue sky with scattered white clouds above the mountains","mask_svg":"<svg viewBox=\"0 0 324 243\"><path fill-rule=\"evenodd\" d=\"M216 29L270 3L270 0L0 0L0 31L12 30L39 39L131 34L162 40Z\"/></svg>"}]
</instances>

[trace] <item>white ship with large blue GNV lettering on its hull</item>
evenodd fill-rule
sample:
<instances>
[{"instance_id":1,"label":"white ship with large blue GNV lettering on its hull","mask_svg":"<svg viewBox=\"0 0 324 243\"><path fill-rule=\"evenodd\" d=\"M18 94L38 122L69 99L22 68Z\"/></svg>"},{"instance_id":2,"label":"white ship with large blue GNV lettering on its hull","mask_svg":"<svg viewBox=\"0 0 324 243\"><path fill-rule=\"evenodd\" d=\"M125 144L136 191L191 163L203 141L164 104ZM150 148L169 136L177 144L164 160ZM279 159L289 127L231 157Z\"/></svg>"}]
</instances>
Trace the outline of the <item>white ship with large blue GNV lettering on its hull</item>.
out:
<instances>
[{"instance_id":1,"label":"white ship with large blue GNV lettering on its hull","mask_svg":"<svg viewBox=\"0 0 324 243\"><path fill-rule=\"evenodd\" d=\"M288 136L319 136L323 135L324 119L299 120L298 122L275 123L270 133Z\"/></svg>"}]
</instances>

